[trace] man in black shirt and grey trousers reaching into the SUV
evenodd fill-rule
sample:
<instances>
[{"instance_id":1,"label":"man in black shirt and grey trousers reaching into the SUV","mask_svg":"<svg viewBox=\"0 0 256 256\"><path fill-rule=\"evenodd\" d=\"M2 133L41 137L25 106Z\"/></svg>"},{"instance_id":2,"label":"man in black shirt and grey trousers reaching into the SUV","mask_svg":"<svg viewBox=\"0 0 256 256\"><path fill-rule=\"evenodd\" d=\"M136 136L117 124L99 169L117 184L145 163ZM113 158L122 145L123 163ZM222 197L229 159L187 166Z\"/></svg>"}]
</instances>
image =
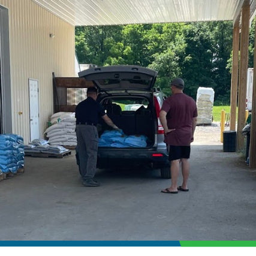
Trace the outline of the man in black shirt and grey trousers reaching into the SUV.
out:
<instances>
[{"instance_id":1,"label":"man in black shirt and grey trousers reaching into the SUV","mask_svg":"<svg viewBox=\"0 0 256 256\"><path fill-rule=\"evenodd\" d=\"M99 116L113 129L119 129L106 115L100 103L96 101L97 96L97 88L88 88L86 100L81 101L76 107L77 153L84 186L100 186L94 180L98 151L96 125L98 124Z\"/></svg>"}]
</instances>

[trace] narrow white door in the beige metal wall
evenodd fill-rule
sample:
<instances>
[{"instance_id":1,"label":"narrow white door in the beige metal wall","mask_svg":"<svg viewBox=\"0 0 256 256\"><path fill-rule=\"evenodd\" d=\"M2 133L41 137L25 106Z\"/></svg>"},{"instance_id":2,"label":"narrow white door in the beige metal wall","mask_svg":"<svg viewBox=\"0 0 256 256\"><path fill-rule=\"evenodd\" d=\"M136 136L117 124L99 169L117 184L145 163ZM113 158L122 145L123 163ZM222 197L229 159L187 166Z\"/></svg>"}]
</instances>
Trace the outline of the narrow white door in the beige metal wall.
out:
<instances>
[{"instance_id":1,"label":"narrow white door in the beige metal wall","mask_svg":"<svg viewBox=\"0 0 256 256\"><path fill-rule=\"evenodd\" d=\"M38 80L29 79L29 121L30 140L40 138L39 135L39 107L38 107Z\"/></svg>"}]
</instances>

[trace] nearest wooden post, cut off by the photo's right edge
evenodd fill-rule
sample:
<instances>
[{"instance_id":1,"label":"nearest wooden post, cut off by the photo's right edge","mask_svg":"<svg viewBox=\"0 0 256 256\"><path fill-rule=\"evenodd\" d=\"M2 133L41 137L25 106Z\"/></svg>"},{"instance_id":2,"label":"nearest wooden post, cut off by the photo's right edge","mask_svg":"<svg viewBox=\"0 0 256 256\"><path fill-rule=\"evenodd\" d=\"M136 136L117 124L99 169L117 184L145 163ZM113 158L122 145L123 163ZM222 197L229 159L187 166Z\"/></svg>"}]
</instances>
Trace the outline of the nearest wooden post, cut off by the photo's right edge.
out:
<instances>
[{"instance_id":1,"label":"nearest wooden post, cut off by the photo's right edge","mask_svg":"<svg viewBox=\"0 0 256 256\"><path fill-rule=\"evenodd\" d=\"M256 22L255 22L256 23ZM254 32L254 40L256 33ZM254 66L256 64L256 41L254 41ZM254 82L252 86L252 114L251 114L251 138L249 148L249 167L256 168L256 68L254 68Z\"/></svg>"}]
</instances>

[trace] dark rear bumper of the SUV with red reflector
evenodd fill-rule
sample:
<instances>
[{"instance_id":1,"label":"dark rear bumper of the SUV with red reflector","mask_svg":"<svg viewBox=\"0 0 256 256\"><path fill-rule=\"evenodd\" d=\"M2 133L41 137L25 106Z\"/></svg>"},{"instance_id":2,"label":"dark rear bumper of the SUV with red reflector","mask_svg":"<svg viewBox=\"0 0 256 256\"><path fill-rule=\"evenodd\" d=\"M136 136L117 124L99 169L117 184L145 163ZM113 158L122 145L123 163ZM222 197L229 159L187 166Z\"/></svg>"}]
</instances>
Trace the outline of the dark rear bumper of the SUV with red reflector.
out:
<instances>
[{"instance_id":1,"label":"dark rear bumper of the SUV with red reflector","mask_svg":"<svg viewBox=\"0 0 256 256\"><path fill-rule=\"evenodd\" d=\"M132 167L147 165L153 168L161 168L170 165L168 155L159 151L141 150L104 150L98 151L98 168Z\"/></svg>"}]
</instances>

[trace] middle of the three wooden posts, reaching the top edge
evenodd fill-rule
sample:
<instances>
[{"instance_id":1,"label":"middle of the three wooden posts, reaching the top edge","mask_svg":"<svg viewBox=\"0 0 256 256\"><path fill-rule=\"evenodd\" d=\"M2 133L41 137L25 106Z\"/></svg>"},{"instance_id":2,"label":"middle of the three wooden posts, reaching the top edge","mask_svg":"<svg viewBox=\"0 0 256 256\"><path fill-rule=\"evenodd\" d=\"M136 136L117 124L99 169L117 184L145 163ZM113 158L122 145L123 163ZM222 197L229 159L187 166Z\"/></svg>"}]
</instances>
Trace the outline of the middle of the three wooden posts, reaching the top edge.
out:
<instances>
[{"instance_id":1,"label":"middle of the three wooden posts, reaching the top edge","mask_svg":"<svg viewBox=\"0 0 256 256\"><path fill-rule=\"evenodd\" d=\"M249 0L244 2L242 7L242 28L240 38L240 68L239 68L239 92L238 92L238 118L237 118L237 152L245 149L245 137L242 129L245 126L245 103L246 83L248 68L248 45L249 45Z\"/></svg>"}]
</instances>

